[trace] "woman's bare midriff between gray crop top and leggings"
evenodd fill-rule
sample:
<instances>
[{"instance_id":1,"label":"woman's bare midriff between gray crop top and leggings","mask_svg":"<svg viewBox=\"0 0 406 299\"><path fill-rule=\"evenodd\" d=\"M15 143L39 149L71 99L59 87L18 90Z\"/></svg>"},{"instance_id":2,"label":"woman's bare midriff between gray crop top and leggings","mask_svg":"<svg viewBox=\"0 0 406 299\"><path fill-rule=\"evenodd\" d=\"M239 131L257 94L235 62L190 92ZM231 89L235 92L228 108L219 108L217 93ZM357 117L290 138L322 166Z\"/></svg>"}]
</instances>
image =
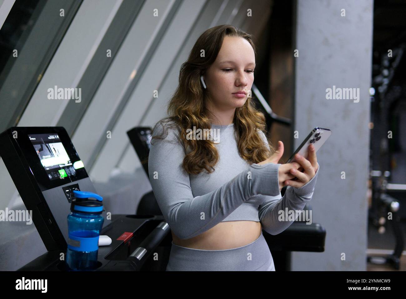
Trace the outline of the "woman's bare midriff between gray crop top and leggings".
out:
<instances>
[{"instance_id":1,"label":"woman's bare midriff between gray crop top and leggings","mask_svg":"<svg viewBox=\"0 0 406 299\"><path fill-rule=\"evenodd\" d=\"M199 236L182 240L172 232L173 244L203 250L233 249L250 244L261 236L261 223L256 221L220 222Z\"/></svg>"}]
</instances>

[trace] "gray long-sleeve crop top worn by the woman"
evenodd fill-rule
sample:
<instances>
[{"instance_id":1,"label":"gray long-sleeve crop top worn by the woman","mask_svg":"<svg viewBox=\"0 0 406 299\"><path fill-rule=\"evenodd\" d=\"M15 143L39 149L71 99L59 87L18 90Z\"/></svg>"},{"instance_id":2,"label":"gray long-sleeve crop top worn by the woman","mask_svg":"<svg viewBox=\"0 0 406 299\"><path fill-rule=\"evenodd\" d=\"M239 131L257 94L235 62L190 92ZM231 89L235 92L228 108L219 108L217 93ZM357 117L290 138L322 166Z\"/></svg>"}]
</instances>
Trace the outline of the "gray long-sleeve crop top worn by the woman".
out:
<instances>
[{"instance_id":1,"label":"gray long-sleeve crop top worn by the woman","mask_svg":"<svg viewBox=\"0 0 406 299\"><path fill-rule=\"evenodd\" d=\"M158 123L153 136L162 132ZM175 129L168 129L164 140L154 139L149 152L148 170L153 193L173 233L189 239L224 221L251 220L276 235L293 221L279 221L279 211L303 210L313 196L320 165L315 176L300 188L279 190L281 164L249 164L240 156L233 124L215 125L219 161L215 171L188 174L182 168L184 144ZM268 145L265 134L258 130ZM269 145L268 145L269 146Z\"/></svg>"}]
</instances>

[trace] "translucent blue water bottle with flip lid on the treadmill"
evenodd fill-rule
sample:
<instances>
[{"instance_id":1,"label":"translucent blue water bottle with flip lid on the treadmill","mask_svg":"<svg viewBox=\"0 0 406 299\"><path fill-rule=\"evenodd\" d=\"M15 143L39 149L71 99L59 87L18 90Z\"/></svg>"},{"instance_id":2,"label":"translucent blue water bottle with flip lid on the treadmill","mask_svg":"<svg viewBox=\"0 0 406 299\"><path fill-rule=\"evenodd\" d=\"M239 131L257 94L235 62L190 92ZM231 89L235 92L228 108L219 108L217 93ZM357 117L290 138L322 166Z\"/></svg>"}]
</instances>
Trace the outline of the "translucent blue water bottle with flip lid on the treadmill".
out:
<instances>
[{"instance_id":1,"label":"translucent blue water bottle with flip lid on the treadmill","mask_svg":"<svg viewBox=\"0 0 406 299\"><path fill-rule=\"evenodd\" d=\"M93 270L97 267L99 236L104 222L103 198L92 192L76 190L73 195L76 199L72 200L68 215L66 263L71 270Z\"/></svg>"}]
</instances>

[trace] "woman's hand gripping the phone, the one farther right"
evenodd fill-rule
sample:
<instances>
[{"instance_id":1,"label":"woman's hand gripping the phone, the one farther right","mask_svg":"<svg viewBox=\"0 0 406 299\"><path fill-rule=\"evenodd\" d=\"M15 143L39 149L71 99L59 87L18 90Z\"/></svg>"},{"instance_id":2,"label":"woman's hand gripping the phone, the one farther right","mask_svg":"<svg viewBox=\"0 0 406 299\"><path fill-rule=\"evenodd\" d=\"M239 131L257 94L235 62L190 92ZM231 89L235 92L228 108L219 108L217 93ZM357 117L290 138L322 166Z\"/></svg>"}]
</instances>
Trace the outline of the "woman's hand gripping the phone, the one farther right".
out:
<instances>
[{"instance_id":1,"label":"woman's hand gripping the phone, the one farther right","mask_svg":"<svg viewBox=\"0 0 406 299\"><path fill-rule=\"evenodd\" d=\"M292 186L295 188L300 188L308 183L316 174L318 169L316 152L314 150L314 145L309 145L309 160L305 159L302 155L296 154L295 161L302 165L304 172L296 169L291 169L290 173L298 178L297 181L286 180L286 186Z\"/></svg>"}]
</instances>

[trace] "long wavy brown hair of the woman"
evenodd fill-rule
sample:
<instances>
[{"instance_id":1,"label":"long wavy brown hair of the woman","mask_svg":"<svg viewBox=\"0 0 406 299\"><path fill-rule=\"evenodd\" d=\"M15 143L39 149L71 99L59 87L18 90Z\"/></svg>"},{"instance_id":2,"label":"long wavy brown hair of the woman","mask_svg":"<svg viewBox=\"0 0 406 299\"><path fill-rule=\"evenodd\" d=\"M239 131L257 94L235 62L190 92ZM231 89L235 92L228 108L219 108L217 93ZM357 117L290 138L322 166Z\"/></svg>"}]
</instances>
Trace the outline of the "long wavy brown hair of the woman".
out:
<instances>
[{"instance_id":1,"label":"long wavy brown hair of the woman","mask_svg":"<svg viewBox=\"0 0 406 299\"><path fill-rule=\"evenodd\" d=\"M185 148L182 166L190 174L197 175L203 169L209 173L213 172L219 159L217 148L212 140L188 140L186 130L192 129L194 126L196 129L211 128L212 119L215 116L204 105L205 98L210 98L210 94L202 87L200 76L216 60L226 35L246 39L253 47L256 56L252 35L231 25L220 25L207 29L197 39L188 60L181 65L179 85L168 104L168 117L158 121L153 128L155 131L157 125L161 124L164 130L161 134L153 136L151 143L154 139L165 139L169 128L177 130ZM201 57L202 49L204 49L206 57ZM274 152L274 147L269 139L267 138L267 141L271 151L259 135L259 130L266 134L265 117L256 109L251 97L247 98L242 107L235 109L233 124L238 151L247 162L259 163ZM190 151L186 151L186 148L189 148ZM145 162L147 160L143 163Z\"/></svg>"}]
</instances>

